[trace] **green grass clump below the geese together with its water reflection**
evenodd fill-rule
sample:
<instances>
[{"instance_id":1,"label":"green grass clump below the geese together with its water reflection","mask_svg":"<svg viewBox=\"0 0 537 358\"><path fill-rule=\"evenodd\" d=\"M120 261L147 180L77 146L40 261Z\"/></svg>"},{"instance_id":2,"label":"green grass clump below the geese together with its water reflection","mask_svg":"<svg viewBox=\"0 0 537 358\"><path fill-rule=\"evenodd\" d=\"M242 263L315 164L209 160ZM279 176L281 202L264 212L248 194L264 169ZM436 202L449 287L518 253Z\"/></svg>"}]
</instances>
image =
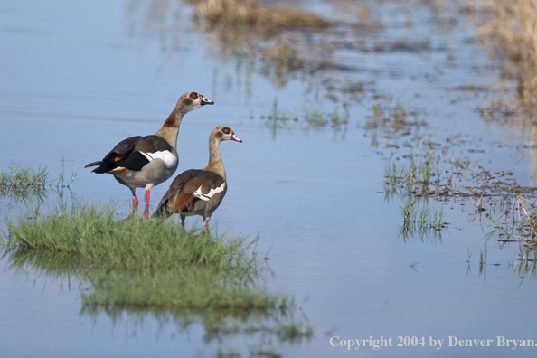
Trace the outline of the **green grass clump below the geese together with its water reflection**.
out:
<instances>
[{"instance_id":1,"label":"green grass clump below the geese together with its water reflection","mask_svg":"<svg viewBox=\"0 0 537 358\"><path fill-rule=\"evenodd\" d=\"M114 212L62 204L8 222L6 269L76 283L80 314L109 316L114 326L128 326L128 336L146 329L149 316L180 332L203 325L203 342L226 343L227 352L257 347L251 349L278 354L281 344L312 338L306 317L295 315L294 298L264 287L258 238L185 231L169 220L117 221ZM239 336L246 347L235 346Z\"/></svg>"}]
</instances>

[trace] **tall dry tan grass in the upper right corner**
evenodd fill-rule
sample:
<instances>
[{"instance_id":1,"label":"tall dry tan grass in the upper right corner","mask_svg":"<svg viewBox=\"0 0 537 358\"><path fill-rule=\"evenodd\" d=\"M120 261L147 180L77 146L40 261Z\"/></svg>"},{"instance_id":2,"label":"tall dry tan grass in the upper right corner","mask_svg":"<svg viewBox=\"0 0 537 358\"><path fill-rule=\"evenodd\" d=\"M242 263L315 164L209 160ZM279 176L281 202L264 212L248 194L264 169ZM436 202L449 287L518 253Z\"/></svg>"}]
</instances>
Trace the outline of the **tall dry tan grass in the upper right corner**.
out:
<instances>
[{"instance_id":1,"label":"tall dry tan grass in the upper right corner","mask_svg":"<svg viewBox=\"0 0 537 358\"><path fill-rule=\"evenodd\" d=\"M495 57L508 59L518 80L513 108L537 112L537 1L481 0L477 34Z\"/></svg>"}]
</instances>

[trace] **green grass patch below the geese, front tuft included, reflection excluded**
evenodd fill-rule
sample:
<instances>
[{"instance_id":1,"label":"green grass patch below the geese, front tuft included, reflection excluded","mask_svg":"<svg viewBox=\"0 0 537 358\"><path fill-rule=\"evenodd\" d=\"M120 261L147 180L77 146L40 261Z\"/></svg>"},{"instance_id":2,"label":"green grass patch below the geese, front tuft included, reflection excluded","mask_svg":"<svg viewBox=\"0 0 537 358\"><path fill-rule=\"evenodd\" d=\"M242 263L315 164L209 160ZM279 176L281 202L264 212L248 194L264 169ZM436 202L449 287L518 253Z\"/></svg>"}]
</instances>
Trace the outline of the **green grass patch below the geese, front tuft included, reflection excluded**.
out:
<instances>
[{"instance_id":1,"label":"green grass patch below the geese, front tuft included, reflection excluded","mask_svg":"<svg viewBox=\"0 0 537 358\"><path fill-rule=\"evenodd\" d=\"M35 264L31 253L76 258L87 278L87 305L173 306L190 309L276 309L288 298L257 285L250 253L256 240L212 238L183 231L173 221L116 221L113 208L62 205L47 216L8 222L6 255ZM50 267L50 260L43 267Z\"/></svg>"}]
</instances>

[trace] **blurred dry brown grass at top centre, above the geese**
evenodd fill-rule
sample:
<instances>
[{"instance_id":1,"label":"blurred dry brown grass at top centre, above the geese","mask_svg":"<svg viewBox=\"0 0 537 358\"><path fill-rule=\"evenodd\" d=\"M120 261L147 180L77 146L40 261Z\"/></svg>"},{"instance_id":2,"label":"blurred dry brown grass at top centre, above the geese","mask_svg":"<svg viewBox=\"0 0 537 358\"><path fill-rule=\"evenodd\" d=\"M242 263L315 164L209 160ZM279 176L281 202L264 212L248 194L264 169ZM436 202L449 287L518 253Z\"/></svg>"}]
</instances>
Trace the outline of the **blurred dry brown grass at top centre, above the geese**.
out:
<instances>
[{"instance_id":1,"label":"blurred dry brown grass at top centre, above the geese","mask_svg":"<svg viewBox=\"0 0 537 358\"><path fill-rule=\"evenodd\" d=\"M264 4L260 0L183 0L193 5L193 24L221 54L259 61L271 80L287 82L307 62L293 34L333 25L318 14Z\"/></svg>"}]
</instances>

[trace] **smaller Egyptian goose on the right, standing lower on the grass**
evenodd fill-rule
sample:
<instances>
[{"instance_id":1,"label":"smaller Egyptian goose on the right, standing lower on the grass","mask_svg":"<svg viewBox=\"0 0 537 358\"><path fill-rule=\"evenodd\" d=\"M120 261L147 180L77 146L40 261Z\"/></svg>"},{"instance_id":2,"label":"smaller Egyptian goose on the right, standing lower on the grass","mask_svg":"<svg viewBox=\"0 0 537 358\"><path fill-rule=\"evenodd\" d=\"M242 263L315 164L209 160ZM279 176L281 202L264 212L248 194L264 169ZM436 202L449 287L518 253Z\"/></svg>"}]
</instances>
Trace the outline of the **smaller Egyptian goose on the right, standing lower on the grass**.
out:
<instances>
[{"instance_id":1,"label":"smaller Egyptian goose on the right, standing lower on the grass","mask_svg":"<svg viewBox=\"0 0 537 358\"><path fill-rule=\"evenodd\" d=\"M242 143L230 127L220 126L212 130L209 137L209 163L203 169L190 169L174 179L170 188L158 204L153 216L178 213L181 225L186 216L201 215L203 230L209 228L212 212L218 208L228 190L226 172L221 162L220 142L234 140Z\"/></svg>"}]
</instances>

